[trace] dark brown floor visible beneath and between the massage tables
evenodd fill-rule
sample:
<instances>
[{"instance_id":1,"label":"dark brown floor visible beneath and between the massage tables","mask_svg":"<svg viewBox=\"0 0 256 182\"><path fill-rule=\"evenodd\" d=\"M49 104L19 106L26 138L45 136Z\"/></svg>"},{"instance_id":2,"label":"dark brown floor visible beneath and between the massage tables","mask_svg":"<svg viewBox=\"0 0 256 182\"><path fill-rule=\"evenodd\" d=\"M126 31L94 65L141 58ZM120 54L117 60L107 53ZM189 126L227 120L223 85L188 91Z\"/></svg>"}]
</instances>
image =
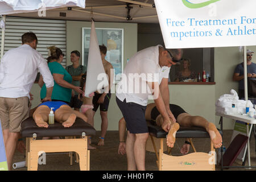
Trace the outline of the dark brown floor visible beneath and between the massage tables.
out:
<instances>
[{"instance_id":1,"label":"dark brown floor visible beneath and between the massage tables","mask_svg":"<svg viewBox=\"0 0 256 182\"><path fill-rule=\"evenodd\" d=\"M100 131L96 132L96 136L92 137L92 146L96 146ZM232 130L224 130L224 146L228 148L230 139L232 137ZM108 131L105 137L105 146L97 146L96 150L90 151L90 170L91 171L126 171L127 161L126 155L118 155L118 131ZM209 152L209 139L199 138L193 139L193 143L197 151ZM177 138L175 147L172 150L173 155L180 155L180 147L183 145L184 139ZM217 150L216 150L217 151ZM192 152L192 147L189 152ZM256 166L256 152L255 152L255 139L252 135L250 141L250 154L251 154L251 166ZM218 156L218 154L217 154ZM25 160L24 154L16 151L14 155L14 163ZM46 155L46 165L39 165L39 171L77 171L80 170L79 164L75 162L73 158L73 165L70 164L70 158L68 154L52 153ZM242 162L236 160L233 166L241 166ZM246 166L247 166L246 161ZM26 167L13 169L14 171L27 171ZM154 152L146 151L146 170L157 171L156 155ZM216 165L216 170L220 170L220 166ZM224 171L256 171L256 168L229 168Z\"/></svg>"}]
</instances>

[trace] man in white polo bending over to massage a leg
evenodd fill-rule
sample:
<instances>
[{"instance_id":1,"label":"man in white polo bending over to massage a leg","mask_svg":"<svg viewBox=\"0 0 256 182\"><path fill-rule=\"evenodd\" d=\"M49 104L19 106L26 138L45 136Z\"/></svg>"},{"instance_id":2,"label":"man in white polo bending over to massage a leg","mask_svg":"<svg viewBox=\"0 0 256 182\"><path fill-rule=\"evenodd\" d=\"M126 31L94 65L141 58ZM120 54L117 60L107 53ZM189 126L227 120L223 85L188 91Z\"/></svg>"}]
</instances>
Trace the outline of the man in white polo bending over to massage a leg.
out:
<instances>
[{"instance_id":1,"label":"man in white polo bending over to massage a leg","mask_svg":"<svg viewBox=\"0 0 256 182\"><path fill-rule=\"evenodd\" d=\"M172 50L171 53L160 45L148 47L131 57L123 71L116 101L126 121L128 170L145 170L148 138L145 110L148 97L153 95L156 107L164 118L163 130L170 130L169 117L176 122L169 107L168 88L170 67L175 64L173 58L181 59L181 51Z\"/></svg>"}]
</instances>

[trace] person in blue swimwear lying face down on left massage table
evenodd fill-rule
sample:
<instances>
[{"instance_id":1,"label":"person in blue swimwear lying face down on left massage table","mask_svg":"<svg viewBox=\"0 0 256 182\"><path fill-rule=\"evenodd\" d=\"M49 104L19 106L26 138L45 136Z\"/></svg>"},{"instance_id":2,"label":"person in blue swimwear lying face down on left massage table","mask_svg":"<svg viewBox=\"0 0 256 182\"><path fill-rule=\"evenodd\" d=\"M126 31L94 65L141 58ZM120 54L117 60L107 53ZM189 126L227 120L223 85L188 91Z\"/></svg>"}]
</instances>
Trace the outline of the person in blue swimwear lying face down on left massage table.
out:
<instances>
[{"instance_id":1,"label":"person in blue swimwear lying face down on left massage table","mask_svg":"<svg viewBox=\"0 0 256 182\"><path fill-rule=\"evenodd\" d=\"M84 114L79 111L73 110L68 104L61 101L47 101L40 104L38 107L35 107L30 111L36 125L38 127L48 127L49 113L51 107L54 107L54 117L55 121L62 123L64 127L71 127L76 121L76 117L81 118L85 122L88 119Z\"/></svg>"}]
</instances>

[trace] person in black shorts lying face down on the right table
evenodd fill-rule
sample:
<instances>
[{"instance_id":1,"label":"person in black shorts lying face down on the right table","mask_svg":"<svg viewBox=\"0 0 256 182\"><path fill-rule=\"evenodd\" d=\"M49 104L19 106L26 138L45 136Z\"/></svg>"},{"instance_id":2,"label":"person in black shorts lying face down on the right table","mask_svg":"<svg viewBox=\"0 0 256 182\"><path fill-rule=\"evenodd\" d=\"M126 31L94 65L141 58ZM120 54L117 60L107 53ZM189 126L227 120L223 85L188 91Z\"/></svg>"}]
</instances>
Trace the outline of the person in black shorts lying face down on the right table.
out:
<instances>
[{"instance_id":1,"label":"person in black shorts lying face down on the right table","mask_svg":"<svg viewBox=\"0 0 256 182\"><path fill-rule=\"evenodd\" d=\"M208 122L205 118L200 116L192 116L186 113L180 106L170 104L170 110L174 114L177 122L173 122L170 118L171 127L167 135L167 146L174 147L176 132L179 130L180 126L183 127L203 127L210 135L210 139L213 142L214 148L220 148L222 146L222 137L218 132L216 126L213 123ZM162 127L163 125L163 117L156 109L156 105L154 103L148 104L145 112L146 120L155 121L156 125ZM125 119L121 118L119 120L119 154L125 154ZM189 151L189 145L184 144L181 148L181 154L187 154Z\"/></svg>"}]
</instances>

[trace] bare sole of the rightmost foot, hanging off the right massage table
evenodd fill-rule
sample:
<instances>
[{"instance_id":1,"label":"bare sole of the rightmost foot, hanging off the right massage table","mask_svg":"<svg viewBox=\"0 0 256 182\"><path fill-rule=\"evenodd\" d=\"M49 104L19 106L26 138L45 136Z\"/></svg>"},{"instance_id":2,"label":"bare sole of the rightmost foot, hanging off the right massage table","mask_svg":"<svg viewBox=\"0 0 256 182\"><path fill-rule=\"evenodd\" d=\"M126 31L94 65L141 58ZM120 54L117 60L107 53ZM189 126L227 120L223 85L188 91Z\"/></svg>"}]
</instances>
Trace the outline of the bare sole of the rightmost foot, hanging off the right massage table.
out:
<instances>
[{"instance_id":1,"label":"bare sole of the rightmost foot, hanging off the right massage table","mask_svg":"<svg viewBox=\"0 0 256 182\"><path fill-rule=\"evenodd\" d=\"M216 126L213 123L208 123L207 131L210 135L214 148L220 148L222 146L222 137Z\"/></svg>"}]
</instances>

